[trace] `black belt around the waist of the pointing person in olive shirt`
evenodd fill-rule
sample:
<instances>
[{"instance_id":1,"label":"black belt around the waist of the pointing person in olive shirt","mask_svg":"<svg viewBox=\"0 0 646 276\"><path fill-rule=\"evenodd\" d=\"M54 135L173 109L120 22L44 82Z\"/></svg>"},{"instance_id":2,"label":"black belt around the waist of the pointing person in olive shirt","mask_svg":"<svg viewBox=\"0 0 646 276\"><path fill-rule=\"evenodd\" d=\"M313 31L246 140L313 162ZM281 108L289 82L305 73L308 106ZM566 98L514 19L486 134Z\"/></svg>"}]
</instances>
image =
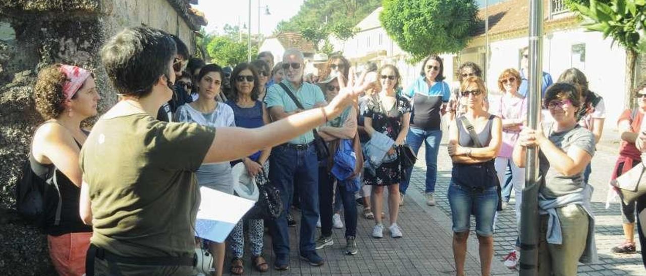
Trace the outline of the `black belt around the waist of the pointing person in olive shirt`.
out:
<instances>
[{"instance_id":1,"label":"black belt around the waist of the pointing person in olive shirt","mask_svg":"<svg viewBox=\"0 0 646 276\"><path fill-rule=\"evenodd\" d=\"M196 266L197 257L124 257L90 244L85 258L85 275L94 276L94 259L140 266Z\"/></svg>"}]
</instances>

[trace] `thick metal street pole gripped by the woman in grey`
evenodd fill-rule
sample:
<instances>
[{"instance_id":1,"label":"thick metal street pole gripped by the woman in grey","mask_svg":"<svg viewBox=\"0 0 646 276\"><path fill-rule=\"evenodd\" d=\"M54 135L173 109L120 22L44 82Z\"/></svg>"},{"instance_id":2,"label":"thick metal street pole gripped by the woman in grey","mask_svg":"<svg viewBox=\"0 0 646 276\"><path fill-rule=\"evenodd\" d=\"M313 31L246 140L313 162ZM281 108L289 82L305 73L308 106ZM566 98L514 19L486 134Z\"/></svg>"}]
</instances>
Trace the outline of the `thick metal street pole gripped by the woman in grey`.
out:
<instances>
[{"instance_id":1,"label":"thick metal street pole gripped by the woman in grey","mask_svg":"<svg viewBox=\"0 0 646 276\"><path fill-rule=\"evenodd\" d=\"M529 1L529 68L527 124L532 129L538 124L541 113L541 83L543 82L543 0ZM521 203L521 257L520 275L538 274L538 192L541 186L538 148L527 148L525 159L525 188Z\"/></svg>"}]
</instances>

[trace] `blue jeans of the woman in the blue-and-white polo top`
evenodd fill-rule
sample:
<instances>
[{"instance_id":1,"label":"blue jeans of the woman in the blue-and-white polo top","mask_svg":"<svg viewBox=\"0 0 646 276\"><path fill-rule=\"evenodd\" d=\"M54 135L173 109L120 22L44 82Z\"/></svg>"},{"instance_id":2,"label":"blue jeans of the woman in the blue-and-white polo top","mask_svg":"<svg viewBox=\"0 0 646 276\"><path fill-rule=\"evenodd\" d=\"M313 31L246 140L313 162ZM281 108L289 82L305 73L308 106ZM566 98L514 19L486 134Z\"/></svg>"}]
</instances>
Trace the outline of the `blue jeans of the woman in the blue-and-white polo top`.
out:
<instances>
[{"instance_id":1,"label":"blue jeans of the woman in the blue-and-white polo top","mask_svg":"<svg viewBox=\"0 0 646 276\"><path fill-rule=\"evenodd\" d=\"M437 180L437 153L439 152L440 142L442 141L442 130L422 130L421 128L413 128L411 126L406 135L406 144L408 144L415 152L419 153L419 148L422 142L426 143L426 188L424 192L435 192L435 181ZM419 159L419 157L417 157ZM410 183L410 176L413 172L413 167L406 171L406 179L402 179L399 185L399 192L406 194L408 184Z\"/></svg>"}]
</instances>

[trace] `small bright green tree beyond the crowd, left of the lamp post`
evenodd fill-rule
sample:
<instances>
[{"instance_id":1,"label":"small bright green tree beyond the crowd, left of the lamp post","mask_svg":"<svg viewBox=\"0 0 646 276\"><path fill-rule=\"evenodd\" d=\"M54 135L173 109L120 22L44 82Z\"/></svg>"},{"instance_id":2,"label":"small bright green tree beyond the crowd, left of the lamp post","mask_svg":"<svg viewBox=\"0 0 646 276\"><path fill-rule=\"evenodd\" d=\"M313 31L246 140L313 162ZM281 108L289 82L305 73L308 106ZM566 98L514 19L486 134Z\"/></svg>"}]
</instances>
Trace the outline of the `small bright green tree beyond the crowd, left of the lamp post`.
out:
<instances>
[{"instance_id":1,"label":"small bright green tree beyond the crowd, left of the lamp post","mask_svg":"<svg viewBox=\"0 0 646 276\"><path fill-rule=\"evenodd\" d=\"M214 37L207 46L207 52L213 63L221 66L234 66L247 62L247 43L238 42L227 35ZM258 45L252 45L251 55L258 54Z\"/></svg>"}]
</instances>

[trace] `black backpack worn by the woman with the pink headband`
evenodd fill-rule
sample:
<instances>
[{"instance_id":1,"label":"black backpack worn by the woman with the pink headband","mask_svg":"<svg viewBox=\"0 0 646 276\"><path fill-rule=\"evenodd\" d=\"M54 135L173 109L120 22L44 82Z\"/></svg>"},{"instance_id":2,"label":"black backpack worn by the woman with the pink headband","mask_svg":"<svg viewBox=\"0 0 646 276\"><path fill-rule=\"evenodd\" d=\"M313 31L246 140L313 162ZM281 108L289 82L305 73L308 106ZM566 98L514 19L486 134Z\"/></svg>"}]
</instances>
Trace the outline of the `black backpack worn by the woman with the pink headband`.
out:
<instances>
[{"instance_id":1,"label":"black backpack worn by the woman with the pink headband","mask_svg":"<svg viewBox=\"0 0 646 276\"><path fill-rule=\"evenodd\" d=\"M30 153L31 156L31 153ZM16 183L16 210L20 217L44 231L61 221L63 199L56 181L54 165L45 175L34 172L30 158L23 164L22 175Z\"/></svg>"}]
</instances>

